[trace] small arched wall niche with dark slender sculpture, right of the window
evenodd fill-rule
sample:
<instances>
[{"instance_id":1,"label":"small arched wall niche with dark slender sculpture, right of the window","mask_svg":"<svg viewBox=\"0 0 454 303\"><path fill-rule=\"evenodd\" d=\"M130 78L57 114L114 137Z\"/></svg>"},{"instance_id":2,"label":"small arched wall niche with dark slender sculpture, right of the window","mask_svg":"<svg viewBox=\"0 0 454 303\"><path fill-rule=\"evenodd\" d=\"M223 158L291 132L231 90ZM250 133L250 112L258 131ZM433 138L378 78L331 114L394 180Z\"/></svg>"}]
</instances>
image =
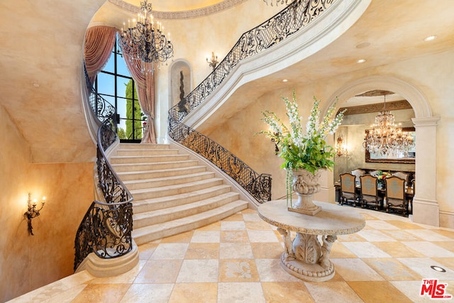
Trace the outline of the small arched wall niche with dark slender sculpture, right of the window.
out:
<instances>
[{"instance_id":1,"label":"small arched wall niche with dark slender sculpture, right of the window","mask_svg":"<svg viewBox=\"0 0 454 303\"><path fill-rule=\"evenodd\" d=\"M169 83L169 107L172 107L192 92L192 66L187 60L178 59L172 63Z\"/></svg>"}]
</instances>

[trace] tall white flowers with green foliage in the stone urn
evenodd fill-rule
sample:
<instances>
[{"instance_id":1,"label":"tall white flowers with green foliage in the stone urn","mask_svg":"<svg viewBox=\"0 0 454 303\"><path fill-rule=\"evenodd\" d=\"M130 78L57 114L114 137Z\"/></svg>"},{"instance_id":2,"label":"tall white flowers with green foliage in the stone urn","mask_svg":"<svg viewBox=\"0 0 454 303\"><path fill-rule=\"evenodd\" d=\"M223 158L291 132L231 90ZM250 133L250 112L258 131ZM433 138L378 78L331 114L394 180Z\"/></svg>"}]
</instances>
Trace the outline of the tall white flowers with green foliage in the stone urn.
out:
<instances>
[{"instance_id":1,"label":"tall white flowers with green foliage in the stone urn","mask_svg":"<svg viewBox=\"0 0 454 303\"><path fill-rule=\"evenodd\" d=\"M285 126L272 111L262 111L262 121L270 126L270 131L261 131L279 148L279 157L284 159L282 168L287 171L303 168L313 175L321 168L333 168L334 149L326 143L326 136L333 134L341 125L343 114L341 111L333 117L337 101L328 109L328 112L320 122L320 100L314 97L314 106L306 123L306 133L301 124L297 99L293 91L293 100L282 97L287 108L289 126Z\"/></svg>"}]
</instances>

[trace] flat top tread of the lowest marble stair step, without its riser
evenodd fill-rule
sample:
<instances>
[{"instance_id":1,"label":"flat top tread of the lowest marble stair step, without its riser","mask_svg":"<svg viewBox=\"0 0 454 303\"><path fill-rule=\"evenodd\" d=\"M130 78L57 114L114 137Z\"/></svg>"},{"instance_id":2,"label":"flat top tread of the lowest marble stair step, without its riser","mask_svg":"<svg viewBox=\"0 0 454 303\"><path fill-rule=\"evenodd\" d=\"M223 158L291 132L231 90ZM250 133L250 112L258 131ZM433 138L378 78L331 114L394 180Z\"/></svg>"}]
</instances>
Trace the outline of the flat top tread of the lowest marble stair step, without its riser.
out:
<instances>
[{"instance_id":1,"label":"flat top tread of the lowest marble stair step, without its riser","mask_svg":"<svg viewBox=\"0 0 454 303\"><path fill-rule=\"evenodd\" d=\"M245 208L247 208L248 202L238 199L238 200L230 202L228 204L224 204L222 206L216 207L215 209L210 209L209 211L204 211L199 214L194 214L192 216L186 216L184 218L175 219L172 221L167 221L167 222L162 222L159 224L153 224L153 225L149 225L149 226L135 228L133 230L133 237L135 238L135 237L146 235L148 233L161 231L161 230L164 230L167 228L176 228L177 226L181 226L184 224L190 224L190 223L194 223L196 221L201 221L206 218L209 218L210 216L220 214L220 213L226 211L227 209L231 209L233 207L242 206L242 205L244 205Z\"/></svg>"}]
</instances>

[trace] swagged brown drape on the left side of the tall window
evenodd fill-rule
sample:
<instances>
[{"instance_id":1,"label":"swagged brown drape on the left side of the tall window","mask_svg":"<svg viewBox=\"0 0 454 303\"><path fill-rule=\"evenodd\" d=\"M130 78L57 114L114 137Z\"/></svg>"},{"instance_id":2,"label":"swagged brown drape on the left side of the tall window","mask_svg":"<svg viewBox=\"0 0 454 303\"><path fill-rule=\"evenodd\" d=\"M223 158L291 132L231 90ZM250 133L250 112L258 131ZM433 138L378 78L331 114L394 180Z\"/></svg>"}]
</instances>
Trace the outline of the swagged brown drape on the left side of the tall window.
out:
<instances>
[{"instance_id":1,"label":"swagged brown drape on the left side of the tall window","mask_svg":"<svg viewBox=\"0 0 454 303\"><path fill-rule=\"evenodd\" d=\"M93 26L85 34L84 60L92 85L98 72L109 60L114 48L116 32L116 28L109 26Z\"/></svg>"}]
</instances>

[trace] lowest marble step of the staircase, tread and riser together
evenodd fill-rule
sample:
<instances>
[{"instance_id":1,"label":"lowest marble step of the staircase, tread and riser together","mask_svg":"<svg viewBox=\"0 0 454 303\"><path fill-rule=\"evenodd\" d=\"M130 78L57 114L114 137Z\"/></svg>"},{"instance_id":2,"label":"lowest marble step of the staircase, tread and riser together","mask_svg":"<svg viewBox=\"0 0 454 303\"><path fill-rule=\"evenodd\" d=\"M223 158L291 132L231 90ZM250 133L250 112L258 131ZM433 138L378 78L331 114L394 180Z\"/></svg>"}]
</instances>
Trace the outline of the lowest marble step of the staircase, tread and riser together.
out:
<instances>
[{"instance_id":1,"label":"lowest marble step of the staircase, tread and riser together","mask_svg":"<svg viewBox=\"0 0 454 303\"><path fill-rule=\"evenodd\" d=\"M224 204L223 206L216 207L209 211L204 211L199 214L187 216L181 219L162 222L160 224L153 224L141 228L134 228L133 238L137 245L147 243L184 231L192 231L201 226L205 226L216 221L220 221L238 211L248 208L248 202L243 200L236 200L234 202Z\"/></svg>"}]
</instances>

